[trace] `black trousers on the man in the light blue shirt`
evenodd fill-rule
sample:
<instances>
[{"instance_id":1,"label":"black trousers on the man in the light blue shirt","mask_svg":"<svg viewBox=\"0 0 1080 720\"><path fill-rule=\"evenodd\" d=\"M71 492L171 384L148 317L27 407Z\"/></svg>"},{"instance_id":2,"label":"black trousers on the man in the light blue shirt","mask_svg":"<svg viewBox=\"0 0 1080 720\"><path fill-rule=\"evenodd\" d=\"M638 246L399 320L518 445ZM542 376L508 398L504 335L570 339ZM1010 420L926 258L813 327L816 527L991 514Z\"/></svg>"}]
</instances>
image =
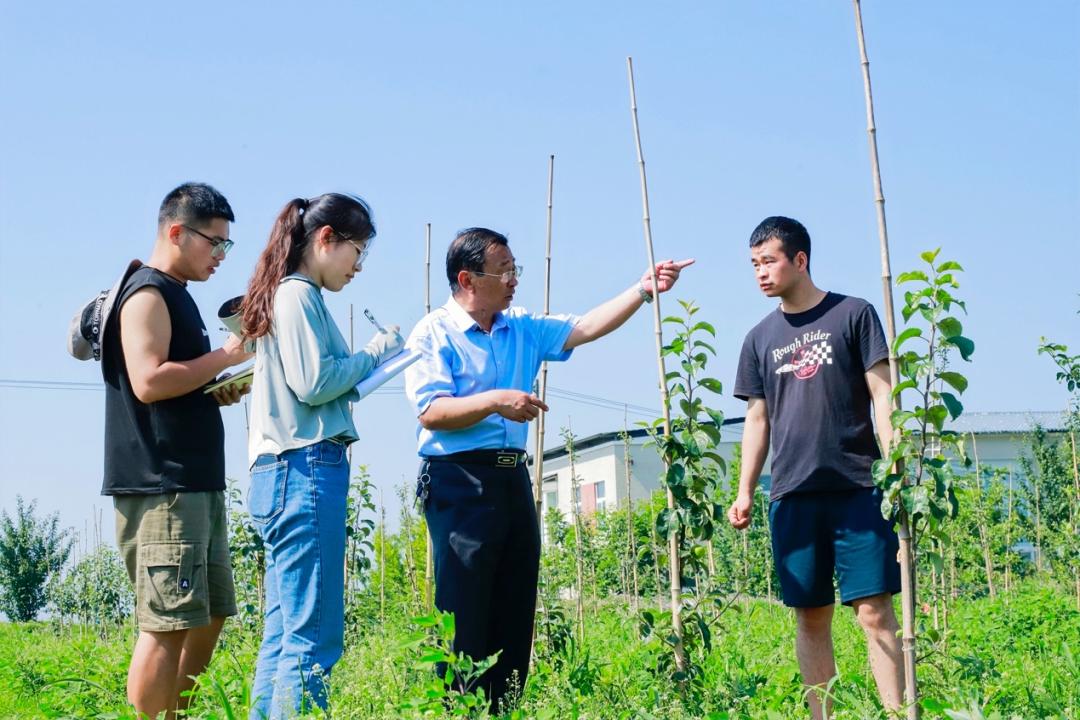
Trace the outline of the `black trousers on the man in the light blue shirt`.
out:
<instances>
[{"instance_id":1,"label":"black trousers on the man in the light blue shirt","mask_svg":"<svg viewBox=\"0 0 1080 720\"><path fill-rule=\"evenodd\" d=\"M424 517L435 556L435 607L455 615L454 650L483 660L500 652L480 680L495 709L529 671L540 531L525 465L424 462Z\"/></svg>"}]
</instances>

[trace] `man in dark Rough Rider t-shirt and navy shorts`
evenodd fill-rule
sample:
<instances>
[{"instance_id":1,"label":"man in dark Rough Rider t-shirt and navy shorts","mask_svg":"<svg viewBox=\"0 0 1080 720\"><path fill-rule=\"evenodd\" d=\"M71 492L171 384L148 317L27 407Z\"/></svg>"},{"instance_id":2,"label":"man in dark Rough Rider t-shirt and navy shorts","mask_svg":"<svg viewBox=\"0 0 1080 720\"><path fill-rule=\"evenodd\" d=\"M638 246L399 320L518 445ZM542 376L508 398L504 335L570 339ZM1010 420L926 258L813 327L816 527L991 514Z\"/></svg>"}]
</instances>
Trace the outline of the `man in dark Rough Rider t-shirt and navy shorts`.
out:
<instances>
[{"instance_id":1,"label":"man in dark Rough Rider t-shirt and navy shorts","mask_svg":"<svg viewBox=\"0 0 1080 720\"><path fill-rule=\"evenodd\" d=\"M870 465L877 439L892 440L889 349L865 300L819 289L810 277L810 235L796 220L766 218L751 235L758 286L780 298L747 335L735 397L747 402L739 494L728 511L750 525L753 497L772 447L769 526L784 603L795 609L802 681L823 690L836 675L834 573L840 601L866 634L870 667L887 709L902 705L904 678L892 596L900 592L897 540L881 517ZM808 693L821 718L818 692Z\"/></svg>"}]
</instances>

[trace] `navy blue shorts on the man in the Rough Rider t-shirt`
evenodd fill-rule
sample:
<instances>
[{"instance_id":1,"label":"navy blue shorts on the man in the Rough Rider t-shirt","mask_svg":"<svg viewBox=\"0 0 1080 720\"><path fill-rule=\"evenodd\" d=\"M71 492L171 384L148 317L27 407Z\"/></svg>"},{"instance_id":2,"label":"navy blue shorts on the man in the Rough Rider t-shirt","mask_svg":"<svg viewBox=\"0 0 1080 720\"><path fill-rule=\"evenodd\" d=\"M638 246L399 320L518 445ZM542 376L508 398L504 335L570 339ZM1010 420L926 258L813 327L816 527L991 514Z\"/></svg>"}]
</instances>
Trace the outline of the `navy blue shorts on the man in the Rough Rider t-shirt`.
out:
<instances>
[{"instance_id":1,"label":"navy blue shorts on the man in the Rough Rider t-shirt","mask_svg":"<svg viewBox=\"0 0 1080 720\"><path fill-rule=\"evenodd\" d=\"M900 542L892 522L881 517L881 491L784 495L769 504L772 558L784 604L823 608L840 601L900 592Z\"/></svg>"}]
</instances>

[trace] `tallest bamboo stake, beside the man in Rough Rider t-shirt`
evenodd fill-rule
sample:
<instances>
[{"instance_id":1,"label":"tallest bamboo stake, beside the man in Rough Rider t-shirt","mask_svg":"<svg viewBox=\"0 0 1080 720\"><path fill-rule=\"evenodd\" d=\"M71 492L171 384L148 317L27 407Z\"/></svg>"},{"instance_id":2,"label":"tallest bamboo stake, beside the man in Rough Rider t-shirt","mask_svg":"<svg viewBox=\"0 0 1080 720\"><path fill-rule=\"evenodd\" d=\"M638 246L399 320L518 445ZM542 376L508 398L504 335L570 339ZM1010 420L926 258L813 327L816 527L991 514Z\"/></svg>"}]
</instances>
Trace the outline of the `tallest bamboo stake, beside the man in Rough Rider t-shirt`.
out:
<instances>
[{"instance_id":1,"label":"tallest bamboo stake, beside the man in Rough Rider t-shirt","mask_svg":"<svg viewBox=\"0 0 1080 720\"><path fill-rule=\"evenodd\" d=\"M874 205L877 209L878 240L881 246L881 291L885 297L886 334L889 341L889 379L892 386L900 383L900 371L893 343L896 339L896 317L892 304L892 269L889 262L889 230L885 220L885 192L881 190L881 168L878 163L877 126L874 122L874 94L870 90L870 62L866 55L866 39L863 36L863 13L859 0L852 0L855 10L855 31L859 37L859 56L863 69L863 91L866 98L866 135L870 152L870 175L874 180ZM900 409L900 396L893 397L894 410ZM900 508L897 518L900 538L900 579L902 608L902 647L904 654L904 701L908 720L919 720L919 690L916 679L915 661L915 538L910 518Z\"/></svg>"}]
</instances>

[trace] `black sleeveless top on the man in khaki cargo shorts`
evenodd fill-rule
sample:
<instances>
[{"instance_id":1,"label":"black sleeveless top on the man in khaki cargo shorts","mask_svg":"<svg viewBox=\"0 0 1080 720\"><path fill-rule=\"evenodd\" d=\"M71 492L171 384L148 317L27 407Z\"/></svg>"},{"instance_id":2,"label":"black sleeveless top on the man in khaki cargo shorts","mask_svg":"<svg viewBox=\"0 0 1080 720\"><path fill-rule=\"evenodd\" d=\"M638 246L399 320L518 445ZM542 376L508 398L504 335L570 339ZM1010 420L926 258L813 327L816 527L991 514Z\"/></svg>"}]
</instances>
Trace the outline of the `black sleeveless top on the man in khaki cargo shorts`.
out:
<instances>
[{"instance_id":1,"label":"black sleeveless top on the man in khaki cargo shorts","mask_svg":"<svg viewBox=\"0 0 1080 720\"><path fill-rule=\"evenodd\" d=\"M116 303L117 322L103 343L105 480L102 494L159 494L225 489L225 427L217 400L199 388L146 404L135 397L120 344L120 310L135 291L154 287L173 327L170 361L210 352L199 307L184 285L156 270L135 271Z\"/></svg>"}]
</instances>

